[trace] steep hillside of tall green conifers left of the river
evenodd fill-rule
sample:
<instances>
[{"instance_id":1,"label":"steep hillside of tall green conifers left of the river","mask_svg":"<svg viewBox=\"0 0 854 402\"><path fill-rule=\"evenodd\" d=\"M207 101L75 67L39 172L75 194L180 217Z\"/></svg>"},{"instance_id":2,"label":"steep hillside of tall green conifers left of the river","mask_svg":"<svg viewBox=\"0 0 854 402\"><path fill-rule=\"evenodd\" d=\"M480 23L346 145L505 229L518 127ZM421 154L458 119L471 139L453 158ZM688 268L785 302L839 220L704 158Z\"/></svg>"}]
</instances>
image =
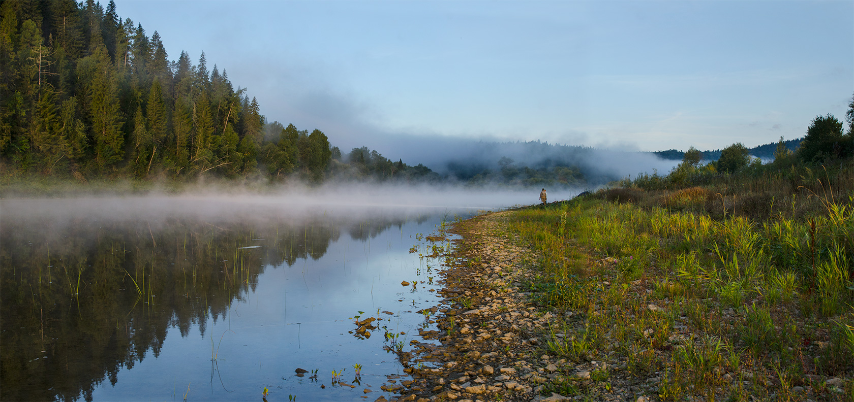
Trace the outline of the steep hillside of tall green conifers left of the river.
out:
<instances>
[{"instance_id":1,"label":"steep hillside of tall green conifers left of the river","mask_svg":"<svg viewBox=\"0 0 854 402\"><path fill-rule=\"evenodd\" d=\"M401 160L379 172L364 159L349 166L323 131L266 125L225 68L209 68L203 52L195 64L183 51L170 61L162 40L122 20L112 0L106 9L93 0L3 2L0 172L316 181L331 170L389 178L410 167ZM403 176L430 176L415 167Z\"/></svg>"}]
</instances>

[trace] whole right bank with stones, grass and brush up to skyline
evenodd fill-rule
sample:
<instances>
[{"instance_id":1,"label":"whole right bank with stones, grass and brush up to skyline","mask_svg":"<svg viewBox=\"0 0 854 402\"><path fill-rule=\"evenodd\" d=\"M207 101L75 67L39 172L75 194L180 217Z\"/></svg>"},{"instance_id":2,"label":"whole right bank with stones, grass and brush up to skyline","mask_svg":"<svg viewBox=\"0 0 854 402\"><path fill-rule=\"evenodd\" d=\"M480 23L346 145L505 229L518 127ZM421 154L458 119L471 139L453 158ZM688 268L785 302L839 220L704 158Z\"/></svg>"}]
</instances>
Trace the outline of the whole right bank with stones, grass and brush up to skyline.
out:
<instances>
[{"instance_id":1,"label":"whole right bank with stones, grass and brush up to skyline","mask_svg":"<svg viewBox=\"0 0 854 402\"><path fill-rule=\"evenodd\" d=\"M457 223L401 398L854 400L854 160L804 154Z\"/></svg>"}]
</instances>

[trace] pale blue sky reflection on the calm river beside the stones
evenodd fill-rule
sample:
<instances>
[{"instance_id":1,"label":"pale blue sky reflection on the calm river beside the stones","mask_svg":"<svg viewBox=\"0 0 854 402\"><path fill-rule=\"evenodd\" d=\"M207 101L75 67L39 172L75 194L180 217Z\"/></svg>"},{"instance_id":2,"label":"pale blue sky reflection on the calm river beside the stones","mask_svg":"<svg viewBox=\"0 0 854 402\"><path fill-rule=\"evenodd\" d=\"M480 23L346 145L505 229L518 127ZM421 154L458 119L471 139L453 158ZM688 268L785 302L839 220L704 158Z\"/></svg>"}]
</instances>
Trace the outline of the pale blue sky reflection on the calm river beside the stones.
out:
<instances>
[{"instance_id":1,"label":"pale blue sky reflection on the calm river beside the stones","mask_svg":"<svg viewBox=\"0 0 854 402\"><path fill-rule=\"evenodd\" d=\"M215 324L208 318L203 336L197 326L184 338L170 328L157 358L149 354L131 370L121 370L115 386L102 382L93 399L182 400L188 385L187 400L260 399L264 387L270 389L268 400L284 400L290 394L300 400L354 400L365 395L366 387L373 391L368 394L371 400L388 395L379 386L386 375L403 374L401 365L393 353L383 350L382 329L359 340L348 334L354 329L349 318L358 311L365 312L362 318L377 317L377 309L395 312L395 316L380 313L380 326L406 332L400 339L408 348L418 324L424 322L415 311L437 300L427 291L437 287L421 283L429 276L438 279L435 270L426 271L430 259L419 260L409 248L418 243L414 235L430 234L444 213L443 209L421 224L409 221L401 229L392 225L366 241L354 240L342 230L338 241L317 260L266 266L254 292L234 300L226 317L220 316ZM418 291L401 286L404 280L418 281ZM213 367L212 350L217 353ZM333 387L331 370L346 369L342 380L352 382L354 364L362 365L362 386ZM298 367L319 369L319 382L311 382L310 374L294 376Z\"/></svg>"}]
</instances>

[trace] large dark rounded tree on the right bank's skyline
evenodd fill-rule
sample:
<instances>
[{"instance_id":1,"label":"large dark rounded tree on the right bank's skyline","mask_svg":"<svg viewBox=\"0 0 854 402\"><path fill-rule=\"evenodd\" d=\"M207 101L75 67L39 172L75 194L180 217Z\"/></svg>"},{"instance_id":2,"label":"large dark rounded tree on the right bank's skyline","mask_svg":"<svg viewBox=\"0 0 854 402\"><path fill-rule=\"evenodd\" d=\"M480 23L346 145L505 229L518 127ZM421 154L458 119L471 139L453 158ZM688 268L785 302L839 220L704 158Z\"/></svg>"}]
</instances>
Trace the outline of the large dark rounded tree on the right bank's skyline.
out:
<instances>
[{"instance_id":1,"label":"large dark rounded tree on the right bank's skyline","mask_svg":"<svg viewBox=\"0 0 854 402\"><path fill-rule=\"evenodd\" d=\"M847 156L848 149L842 122L833 114L816 116L806 131L804 141L800 143L798 159L808 163L822 163Z\"/></svg>"}]
</instances>

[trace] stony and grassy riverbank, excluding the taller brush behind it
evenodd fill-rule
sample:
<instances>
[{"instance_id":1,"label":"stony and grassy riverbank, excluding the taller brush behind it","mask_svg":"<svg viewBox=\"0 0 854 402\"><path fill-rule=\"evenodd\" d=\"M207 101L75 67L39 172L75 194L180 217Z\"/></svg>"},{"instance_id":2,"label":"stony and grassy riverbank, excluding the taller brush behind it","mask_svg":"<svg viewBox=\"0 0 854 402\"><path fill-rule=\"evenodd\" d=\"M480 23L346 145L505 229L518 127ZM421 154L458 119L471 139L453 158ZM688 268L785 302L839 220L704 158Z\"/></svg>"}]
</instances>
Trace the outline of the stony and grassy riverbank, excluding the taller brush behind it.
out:
<instances>
[{"instance_id":1,"label":"stony and grassy riverbank, excluding the taller brush behind it","mask_svg":"<svg viewBox=\"0 0 854 402\"><path fill-rule=\"evenodd\" d=\"M671 253L687 245L641 233L632 222L646 224L644 212L632 208L572 201L455 224L462 239L445 255L439 330L422 331L412 353L401 353L413 378L398 400L852 398L845 298L833 310L810 306L816 297L797 280L786 288L776 270L740 288L728 284L734 278L711 280L702 268L717 266L708 245ZM655 215L665 226L678 226L675 218ZM699 236L691 229L682 222Z\"/></svg>"}]
</instances>

